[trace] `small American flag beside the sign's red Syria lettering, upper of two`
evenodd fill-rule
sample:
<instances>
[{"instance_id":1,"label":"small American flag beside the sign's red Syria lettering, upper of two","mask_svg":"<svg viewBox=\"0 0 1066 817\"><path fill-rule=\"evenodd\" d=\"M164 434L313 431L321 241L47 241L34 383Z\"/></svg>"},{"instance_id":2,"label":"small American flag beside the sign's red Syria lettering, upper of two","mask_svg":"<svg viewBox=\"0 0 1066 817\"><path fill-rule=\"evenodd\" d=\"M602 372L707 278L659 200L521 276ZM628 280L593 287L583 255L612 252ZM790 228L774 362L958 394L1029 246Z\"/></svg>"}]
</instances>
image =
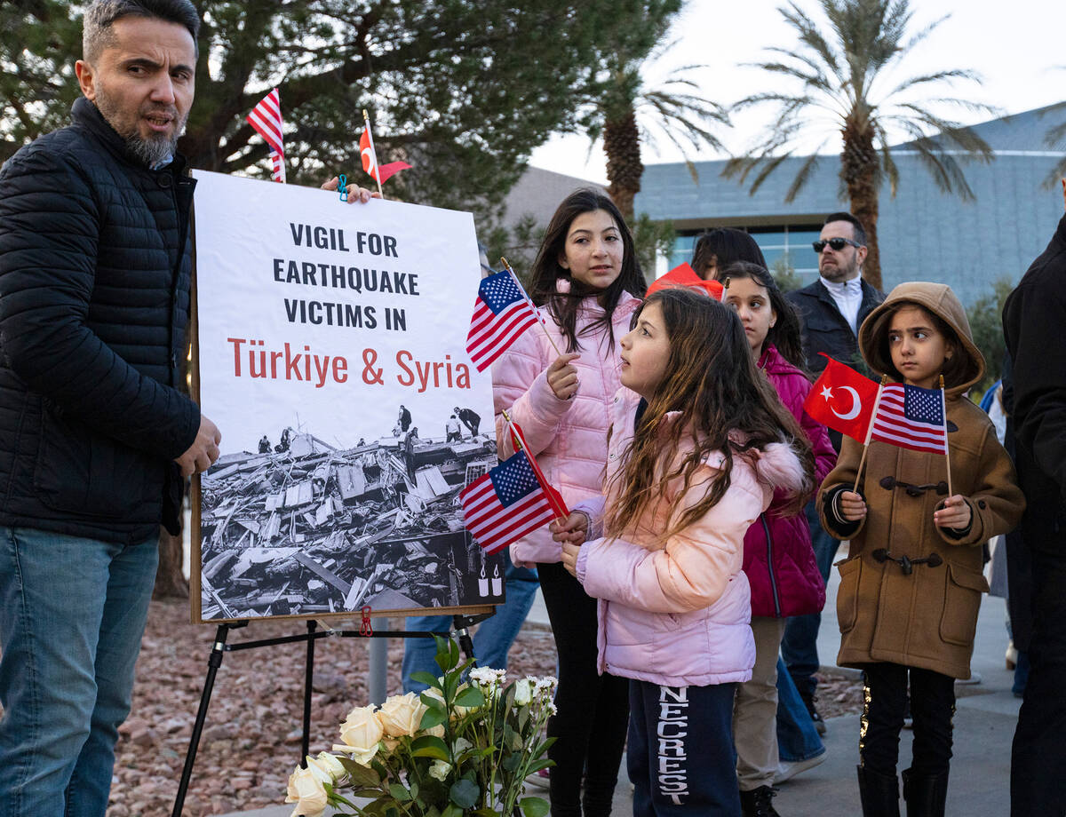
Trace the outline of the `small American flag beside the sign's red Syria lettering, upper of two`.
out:
<instances>
[{"instance_id":1,"label":"small American flag beside the sign's red Syria lettering, upper of two","mask_svg":"<svg viewBox=\"0 0 1066 817\"><path fill-rule=\"evenodd\" d=\"M506 352L539 316L514 276L506 269L482 280L473 305L467 353L479 372Z\"/></svg>"}]
</instances>

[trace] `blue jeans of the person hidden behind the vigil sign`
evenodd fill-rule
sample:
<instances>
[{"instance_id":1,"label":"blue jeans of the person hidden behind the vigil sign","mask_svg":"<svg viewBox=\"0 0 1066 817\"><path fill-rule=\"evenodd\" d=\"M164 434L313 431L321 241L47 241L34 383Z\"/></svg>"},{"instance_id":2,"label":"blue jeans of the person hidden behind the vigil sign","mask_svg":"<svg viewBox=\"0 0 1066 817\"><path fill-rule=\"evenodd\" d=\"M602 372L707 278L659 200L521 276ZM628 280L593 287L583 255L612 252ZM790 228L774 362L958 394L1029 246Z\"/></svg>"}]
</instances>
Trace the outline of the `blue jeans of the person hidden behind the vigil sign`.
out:
<instances>
[{"instance_id":1,"label":"blue jeans of the person hidden behind the vigil sign","mask_svg":"<svg viewBox=\"0 0 1066 817\"><path fill-rule=\"evenodd\" d=\"M496 607L496 615L478 625L473 634L473 654L479 667L507 668L507 651L522 628L526 616L533 606L536 595L536 571L516 568L511 563L504 550L506 571L503 574L506 601ZM452 626L451 616L411 616L407 619L407 630L448 631ZM407 638L403 642L403 689L405 692L421 692L425 684L411 680L415 672L440 674L434 660L437 643L432 638Z\"/></svg>"}]
</instances>

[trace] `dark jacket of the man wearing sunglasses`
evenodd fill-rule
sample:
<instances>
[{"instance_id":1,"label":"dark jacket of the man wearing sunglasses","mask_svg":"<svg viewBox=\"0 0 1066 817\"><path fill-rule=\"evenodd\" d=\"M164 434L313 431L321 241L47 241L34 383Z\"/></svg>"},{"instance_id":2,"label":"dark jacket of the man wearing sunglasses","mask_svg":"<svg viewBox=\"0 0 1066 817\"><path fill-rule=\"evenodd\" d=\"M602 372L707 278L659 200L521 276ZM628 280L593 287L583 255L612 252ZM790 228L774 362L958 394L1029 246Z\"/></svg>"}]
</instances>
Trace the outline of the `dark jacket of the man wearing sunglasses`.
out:
<instances>
[{"instance_id":1,"label":"dark jacket of the man wearing sunglasses","mask_svg":"<svg viewBox=\"0 0 1066 817\"><path fill-rule=\"evenodd\" d=\"M885 299L885 293L875 290L861 278L862 301L859 304L857 326L861 326L874 308ZM785 298L796 309L800 315L800 330L803 334L803 354L807 358L807 371L820 374L825 369L825 358L819 353L824 352L830 358L854 366L859 357L858 341L855 332L847 325L846 318L840 314L837 301L821 280L809 287L788 293Z\"/></svg>"}]
</instances>

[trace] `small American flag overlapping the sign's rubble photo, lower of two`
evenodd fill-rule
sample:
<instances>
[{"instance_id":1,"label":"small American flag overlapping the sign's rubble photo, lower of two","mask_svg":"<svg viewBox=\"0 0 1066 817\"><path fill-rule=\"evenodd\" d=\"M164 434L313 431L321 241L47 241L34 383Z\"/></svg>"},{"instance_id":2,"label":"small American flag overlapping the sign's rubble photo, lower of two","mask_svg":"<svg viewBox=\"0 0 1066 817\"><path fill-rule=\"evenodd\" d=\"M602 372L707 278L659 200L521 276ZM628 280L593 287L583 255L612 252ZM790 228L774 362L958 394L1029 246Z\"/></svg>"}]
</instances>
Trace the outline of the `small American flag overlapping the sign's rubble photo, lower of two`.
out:
<instances>
[{"instance_id":1,"label":"small American flag overlapping the sign's rubble photo, lower of two","mask_svg":"<svg viewBox=\"0 0 1066 817\"><path fill-rule=\"evenodd\" d=\"M496 553L556 517L524 451L459 491L464 524L478 544Z\"/></svg>"}]
</instances>

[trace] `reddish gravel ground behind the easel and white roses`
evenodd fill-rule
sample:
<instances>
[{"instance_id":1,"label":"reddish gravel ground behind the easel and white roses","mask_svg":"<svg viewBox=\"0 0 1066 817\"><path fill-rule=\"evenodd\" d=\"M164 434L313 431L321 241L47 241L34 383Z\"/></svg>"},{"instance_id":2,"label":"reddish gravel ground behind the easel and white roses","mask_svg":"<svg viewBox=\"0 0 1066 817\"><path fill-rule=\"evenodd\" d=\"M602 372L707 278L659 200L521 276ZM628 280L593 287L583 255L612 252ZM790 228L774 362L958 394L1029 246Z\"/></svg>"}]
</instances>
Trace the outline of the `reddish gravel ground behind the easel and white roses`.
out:
<instances>
[{"instance_id":1,"label":"reddish gravel ground behind the easel and white roses","mask_svg":"<svg viewBox=\"0 0 1066 817\"><path fill-rule=\"evenodd\" d=\"M383 620L375 619L378 626ZM402 619L393 620L402 626ZM332 622L340 628L342 624ZM358 630L358 624L354 627ZM171 814L207 674L215 627L189 623L188 602L151 603L138 661L133 710L123 725L108 817ZM253 621L229 641L306 632L303 621ZM316 643L311 753L338 739L353 706L368 702L368 642ZM300 759L304 643L226 653L200 740L184 815L208 817L280 804ZM389 691L400 691L403 646L389 642ZM511 650L512 674L553 674L555 647L546 631L527 630Z\"/></svg>"}]
</instances>

